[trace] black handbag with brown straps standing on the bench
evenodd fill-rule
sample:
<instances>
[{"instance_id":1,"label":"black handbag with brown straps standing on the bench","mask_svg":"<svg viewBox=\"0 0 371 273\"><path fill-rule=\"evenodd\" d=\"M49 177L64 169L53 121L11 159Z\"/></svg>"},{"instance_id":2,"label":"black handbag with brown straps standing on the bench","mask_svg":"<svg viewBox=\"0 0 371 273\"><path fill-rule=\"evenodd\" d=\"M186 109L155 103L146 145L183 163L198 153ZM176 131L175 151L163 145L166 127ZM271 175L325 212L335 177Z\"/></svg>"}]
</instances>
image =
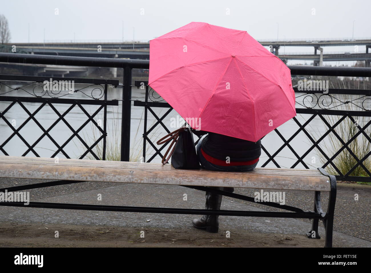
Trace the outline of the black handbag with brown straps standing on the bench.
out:
<instances>
[{"instance_id":1,"label":"black handbag with brown straps standing on the bench","mask_svg":"<svg viewBox=\"0 0 371 273\"><path fill-rule=\"evenodd\" d=\"M171 165L173 165L175 169L200 169L196 148L194 147L193 135L189 127L181 127L167 134L158 140L157 145L164 144L170 140L173 140L173 142L171 142L162 158L162 164L166 164L171 157ZM173 149L169 154L172 147Z\"/></svg>"}]
</instances>

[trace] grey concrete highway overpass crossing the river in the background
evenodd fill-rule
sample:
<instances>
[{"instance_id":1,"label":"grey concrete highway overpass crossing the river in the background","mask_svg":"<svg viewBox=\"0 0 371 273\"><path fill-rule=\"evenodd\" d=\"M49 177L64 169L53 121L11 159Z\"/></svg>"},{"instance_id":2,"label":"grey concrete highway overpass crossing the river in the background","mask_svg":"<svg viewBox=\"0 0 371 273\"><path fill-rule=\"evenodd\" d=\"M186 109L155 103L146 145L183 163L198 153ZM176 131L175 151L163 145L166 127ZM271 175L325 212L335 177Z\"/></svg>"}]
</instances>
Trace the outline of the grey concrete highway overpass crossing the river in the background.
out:
<instances>
[{"instance_id":1,"label":"grey concrete highway overpass crossing the river in the background","mask_svg":"<svg viewBox=\"0 0 371 273\"><path fill-rule=\"evenodd\" d=\"M285 39L259 40L266 47L272 48L280 59L285 60L308 60L313 64L322 66L324 61L366 61L366 66L370 67L371 62L371 38L336 38L336 39ZM83 56L83 57L103 57L103 58L130 58L130 59L149 59L149 41L82 41L73 42L71 40L47 41L46 43L13 43L18 50L26 51L31 54L44 55L63 55L63 56ZM284 52L281 46L313 46L311 52ZM324 53L325 46L358 46L360 52L331 52ZM362 48L361 48L362 47ZM358 48L357 48L358 50Z\"/></svg>"}]
</instances>

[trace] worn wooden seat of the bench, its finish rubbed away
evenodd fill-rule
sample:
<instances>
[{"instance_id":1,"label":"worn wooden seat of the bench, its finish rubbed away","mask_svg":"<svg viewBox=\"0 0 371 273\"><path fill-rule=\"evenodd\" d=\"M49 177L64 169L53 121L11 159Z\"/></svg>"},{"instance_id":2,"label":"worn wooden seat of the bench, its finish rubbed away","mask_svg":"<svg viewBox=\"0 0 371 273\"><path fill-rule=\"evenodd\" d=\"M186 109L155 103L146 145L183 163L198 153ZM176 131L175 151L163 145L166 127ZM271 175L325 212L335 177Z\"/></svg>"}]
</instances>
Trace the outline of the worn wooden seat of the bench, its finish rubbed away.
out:
<instances>
[{"instance_id":1,"label":"worn wooden seat of the bench, its finish rubbed away","mask_svg":"<svg viewBox=\"0 0 371 273\"><path fill-rule=\"evenodd\" d=\"M187 186L330 191L318 170L256 168L253 172L174 169L170 164L0 156L0 177Z\"/></svg>"}]
</instances>

